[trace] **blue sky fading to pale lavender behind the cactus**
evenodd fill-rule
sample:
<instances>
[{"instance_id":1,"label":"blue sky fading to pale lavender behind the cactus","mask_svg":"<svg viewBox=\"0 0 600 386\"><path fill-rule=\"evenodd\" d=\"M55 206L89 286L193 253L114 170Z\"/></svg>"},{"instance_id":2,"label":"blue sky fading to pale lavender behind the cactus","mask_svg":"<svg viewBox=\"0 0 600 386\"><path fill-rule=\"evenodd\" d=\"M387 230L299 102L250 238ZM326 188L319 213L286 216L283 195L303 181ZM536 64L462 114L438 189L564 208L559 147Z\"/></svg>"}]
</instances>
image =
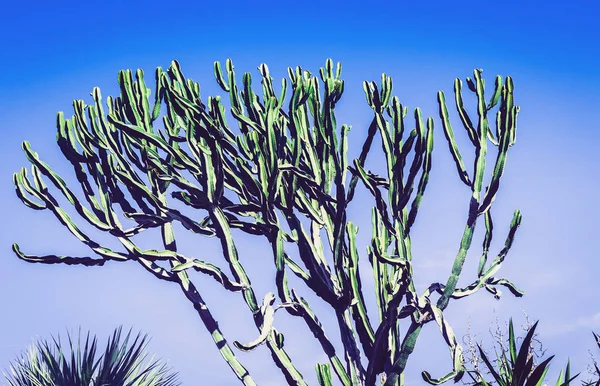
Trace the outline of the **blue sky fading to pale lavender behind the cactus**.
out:
<instances>
[{"instance_id":1,"label":"blue sky fading to pale lavender behind the cactus","mask_svg":"<svg viewBox=\"0 0 600 386\"><path fill-rule=\"evenodd\" d=\"M55 144L56 112L70 116L73 99L90 102L95 86L104 96L115 95L121 69L142 68L150 75L156 66L166 68L177 59L184 73L200 82L206 98L220 93L212 76L215 60L232 58L239 76L245 71L258 76L256 67L267 63L280 79L288 66L300 65L316 73L332 58L344 66L345 95L337 117L338 123L353 126L352 158L358 155L371 119L363 80L379 81L382 72L391 75L394 94L402 103L420 106L424 115L435 118L430 186L413 235L418 288L447 278L468 205L468 191L455 175L441 134L436 92L441 89L451 95L454 78L472 76L474 68L484 69L488 84L496 74L513 76L521 113L517 144L511 149L495 203L498 233L493 245L496 251L501 248L512 211L521 209L523 225L501 275L526 295L515 299L505 294L494 301L487 293L477 294L451 303L447 317L459 336L466 333L470 318L472 330L489 345L487 331L495 315L501 323L513 316L522 324L524 309L532 320L540 319L540 339L548 354L556 354L549 380L553 383L567 357L577 371L585 372L588 350L600 354L591 334L600 332L599 11L592 0L126 5L104 1L5 6L0 15L4 75L0 78L4 217L0 304L5 310L0 316L0 368L6 368L34 337L49 338L81 325L105 339L123 324L150 334L150 350L169 360L186 385L201 384L200 380L237 384L191 305L169 283L157 281L134 263L100 268L47 266L22 262L12 254L13 242L27 253L88 253L50 213L34 212L15 196L12 173L28 166L20 144L29 140L42 159L72 180ZM368 200L367 195L360 197ZM368 219L368 211L356 210L365 235L370 232ZM478 252L481 232L476 237ZM110 243L109 238L98 239ZM150 247L153 240L144 242ZM213 241L184 238L181 244L190 254L221 261ZM247 270L257 294L272 291L268 246L244 239L239 249L249 262ZM472 255L466 263L465 283L474 278L476 266ZM240 296L223 293L210 280L198 280L227 338L254 339L256 330ZM326 328L330 326L329 335L334 335L335 326L325 316L327 308L316 299L311 304ZM315 361L324 356L312 334L283 313L277 317L278 329L289 331L290 355L314 384ZM238 357L260 385L281 384L283 378L271 365L266 348ZM433 324L424 330L410 359L407 380L414 382L410 384L422 383L423 369L434 376L450 369L447 350Z\"/></svg>"}]
</instances>

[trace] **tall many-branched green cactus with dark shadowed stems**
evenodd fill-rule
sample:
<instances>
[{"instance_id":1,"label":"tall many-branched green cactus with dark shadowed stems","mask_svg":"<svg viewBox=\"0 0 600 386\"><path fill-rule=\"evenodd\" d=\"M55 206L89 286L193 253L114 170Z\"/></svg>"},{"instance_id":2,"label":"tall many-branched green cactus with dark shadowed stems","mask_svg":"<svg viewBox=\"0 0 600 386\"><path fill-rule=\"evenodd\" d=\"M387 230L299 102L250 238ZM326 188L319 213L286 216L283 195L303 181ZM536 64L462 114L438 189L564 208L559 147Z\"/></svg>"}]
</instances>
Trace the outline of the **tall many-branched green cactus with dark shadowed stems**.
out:
<instances>
[{"instance_id":1,"label":"tall many-branched green cactus with dark shadowed stems","mask_svg":"<svg viewBox=\"0 0 600 386\"><path fill-rule=\"evenodd\" d=\"M215 63L217 83L229 95L230 112L237 123L235 131L227 123L221 97L208 97L204 103L199 84L186 79L176 61L166 72L157 68L154 95L141 70L137 70L135 80L131 71L121 71L118 97L108 97L103 102L100 90L94 88L92 105L75 101L71 119L58 113L57 142L73 165L83 196L77 197L28 142L23 143L23 150L32 163L33 178L30 180L26 169L16 173L16 192L30 208L51 210L97 257L32 256L22 253L17 244L13 246L15 253L28 262L87 266L103 265L108 260L133 260L157 278L177 283L244 385L255 382L190 280L190 269L208 274L228 291L242 294L258 338L249 344L234 342L234 346L248 351L266 345L289 384L306 382L285 350L283 333L273 326L274 314L282 308L306 322L328 356L329 363L316 365L322 386L332 385L333 377L344 386L375 385L379 375L386 386L402 385L407 360L421 329L431 321L439 325L448 344L453 369L439 379L424 371L423 378L431 384L460 379L464 373L462 349L443 314L450 299L468 296L480 288L499 297L498 285L506 286L516 296L522 295L509 281L494 276L521 223L519 211L515 211L505 247L487 264L493 230L490 208L507 152L515 142L518 107L513 104L512 79L503 81L498 76L493 95L486 102L481 70L475 70L474 79L467 78L478 101L476 120L471 119L463 104L462 82L455 82L458 115L475 149L471 172L467 171L454 138L444 94L438 94L449 149L471 197L464 234L448 280L445 284L432 283L419 295L414 285L410 231L429 180L433 119L424 120L417 108L415 128L406 127L408 109L392 97L392 79L383 74L380 85L364 82L373 119L359 157L348 162L350 126L339 127L335 115L344 91L341 65L334 68L333 62L327 60L320 69L320 81L300 67L289 68L291 98L287 107L286 79L277 94L267 66L262 64L258 69L262 96L255 93L249 73L237 83L231 60L227 60L224 71L220 63ZM163 116L162 106L166 106ZM496 106L494 133L488 113ZM159 118L162 127L157 124ZM386 160L385 176L365 169L377 133ZM489 184L483 191L488 142L498 152ZM116 237L122 250L103 247L84 233L58 205L44 179L67 198L84 221ZM375 201L366 256L375 277L378 323L373 323L367 314L358 264L364 253L357 247L358 227L347 218L347 208L359 182ZM175 209L174 202L184 203L194 214ZM458 278L480 216L484 217L486 232L477 278L459 288ZM133 225L127 228L120 219ZM199 236L217 237L230 273L178 252L174 222ZM160 250L143 250L132 240L132 236L151 228L160 228ZM277 296L267 293L262 304L239 259L232 229L264 236L271 245ZM321 238L321 231L327 240ZM299 260L291 257L289 251L293 248L297 248ZM159 264L161 261L167 261L170 268ZM343 353L336 352L329 338L333 332L326 335L300 291L290 288L290 272L331 305ZM436 302L430 299L434 293L439 294ZM274 306L276 298L279 304ZM401 329L406 318L410 318L408 326Z\"/></svg>"}]
</instances>

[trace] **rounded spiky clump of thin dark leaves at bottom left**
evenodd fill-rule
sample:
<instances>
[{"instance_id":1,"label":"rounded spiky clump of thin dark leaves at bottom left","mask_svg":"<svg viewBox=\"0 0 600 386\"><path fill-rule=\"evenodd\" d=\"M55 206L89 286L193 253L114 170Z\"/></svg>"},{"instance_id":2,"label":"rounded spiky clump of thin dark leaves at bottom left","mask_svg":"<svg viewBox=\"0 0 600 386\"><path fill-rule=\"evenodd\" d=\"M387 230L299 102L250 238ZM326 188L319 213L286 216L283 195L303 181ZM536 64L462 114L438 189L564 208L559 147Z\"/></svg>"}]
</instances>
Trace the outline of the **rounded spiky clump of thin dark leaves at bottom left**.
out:
<instances>
[{"instance_id":1,"label":"rounded spiky clump of thin dark leaves at bottom left","mask_svg":"<svg viewBox=\"0 0 600 386\"><path fill-rule=\"evenodd\" d=\"M77 345L70 335L70 355L54 338L54 345L38 341L28 353L11 364L11 374L5 374L8 386L175 386L177 374L169 374L165 365L150 362L146 336L138 334L129 343L131 331L121 343L119 327L108 340L103 354L97 357L97 341L88 333L82 346L81 334Z\"/></svg>"}]
</instances>

